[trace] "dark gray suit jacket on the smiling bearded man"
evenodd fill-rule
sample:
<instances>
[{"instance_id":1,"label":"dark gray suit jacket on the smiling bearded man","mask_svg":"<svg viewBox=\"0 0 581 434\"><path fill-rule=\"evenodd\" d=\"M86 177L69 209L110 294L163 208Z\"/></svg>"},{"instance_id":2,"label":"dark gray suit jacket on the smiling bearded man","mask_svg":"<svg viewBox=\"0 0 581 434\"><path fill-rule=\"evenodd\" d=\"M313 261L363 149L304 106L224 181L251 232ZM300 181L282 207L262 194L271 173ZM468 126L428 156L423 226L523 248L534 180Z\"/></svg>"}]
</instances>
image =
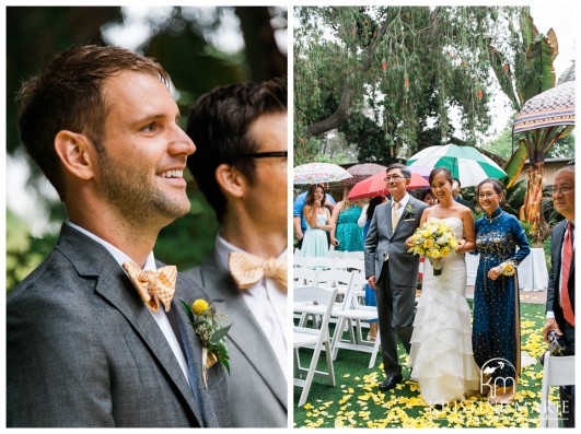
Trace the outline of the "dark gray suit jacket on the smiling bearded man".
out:
<instances>
[{"instance_id":1,"label":"dark gray suit jacket on the smiling bearded man","mask_svg":"<svg viewBox=\"0 0 581 434\"><path fill-rule=\"evenodd\" d=\"M48 258L7 305L8 426L229 425L223 366L201 380L201 347L179 298L206 298L178 274L169 318L193 388L155 319L98 243L65 224Z\"/></svg>"}]
</instances>

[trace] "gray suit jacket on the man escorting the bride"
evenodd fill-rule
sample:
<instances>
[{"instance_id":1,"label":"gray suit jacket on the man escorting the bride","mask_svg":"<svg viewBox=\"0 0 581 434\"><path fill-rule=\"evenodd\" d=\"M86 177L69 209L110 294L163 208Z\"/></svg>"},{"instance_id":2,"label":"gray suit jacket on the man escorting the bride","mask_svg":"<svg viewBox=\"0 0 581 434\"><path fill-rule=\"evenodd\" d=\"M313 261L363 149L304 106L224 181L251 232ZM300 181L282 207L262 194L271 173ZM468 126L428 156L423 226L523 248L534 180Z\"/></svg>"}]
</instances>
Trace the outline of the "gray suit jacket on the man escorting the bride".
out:
<instances>
[{"instance_id":1,"label":"gray suit jacket on the man escorting the bride","mask_svg":"<svg viewBox=\"0 0 581 434\"><path fill-rule=\"evenodd\" d=\"M375 275L375 280L379 280L385 263L385 255L390 255L387 265L392 282L403 286L417 285L419 256L408 254L405 242L419 226L421 214L427 207L426 203L410 196L406 209L393 231L392 201L375 208L364 243L365 278ZM408 212L408 208L414 209L414 211Z\"/></svg>"}]
</instances>

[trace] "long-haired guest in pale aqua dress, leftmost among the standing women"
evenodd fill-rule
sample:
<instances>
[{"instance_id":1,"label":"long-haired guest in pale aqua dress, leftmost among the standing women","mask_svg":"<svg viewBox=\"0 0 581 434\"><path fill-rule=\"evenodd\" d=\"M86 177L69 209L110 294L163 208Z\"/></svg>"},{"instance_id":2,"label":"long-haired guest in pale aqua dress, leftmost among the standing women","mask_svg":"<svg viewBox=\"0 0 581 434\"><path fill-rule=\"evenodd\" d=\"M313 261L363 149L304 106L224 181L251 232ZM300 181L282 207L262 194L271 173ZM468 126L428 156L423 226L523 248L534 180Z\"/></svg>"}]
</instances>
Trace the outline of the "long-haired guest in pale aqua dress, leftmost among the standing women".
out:
<instances>
[{"instance_id":1,"label":"long-haired guest in pale aqua dress, leftmost among the standing women","mask_svg":"<svg viewBox=\"0 0 581 434\"><path fill-rule=\"evenodd\" d=\"M306 195L306 204L303 208L306 219L306 232L300 255L309 257L326 256L328 253L327 233L334 228L330 212L325 207L325 187L313 184Z\"/></svg>"}]
</instances>

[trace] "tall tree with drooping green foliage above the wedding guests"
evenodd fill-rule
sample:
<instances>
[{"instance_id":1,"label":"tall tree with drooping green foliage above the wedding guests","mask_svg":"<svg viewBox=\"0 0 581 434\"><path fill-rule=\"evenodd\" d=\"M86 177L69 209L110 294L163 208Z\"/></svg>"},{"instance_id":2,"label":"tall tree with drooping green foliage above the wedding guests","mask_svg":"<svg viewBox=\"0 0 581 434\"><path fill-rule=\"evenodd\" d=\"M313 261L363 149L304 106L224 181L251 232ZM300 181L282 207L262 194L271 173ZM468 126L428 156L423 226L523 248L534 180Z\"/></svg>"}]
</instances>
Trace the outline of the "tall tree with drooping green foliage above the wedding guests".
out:
<instances>
[{"instance_id":1,"label":"tall tree with drooping green foliage above the wedding guests","mask_svg":"<svg viewBox=\"0 0 581 434\"><path fill-rule=\"evenodd\" d=\"M511 32L527 8L298 8L294 31L295 156L310 138L339 127L369 105L395 154L453 141L450 113L474 144L490 125L487 90L496 47L520 49ZM333 93L338 101L322 110ZM367 101L365 101L367 99ZM435 140L439 139L439 140ZM458 138L455 138L456 140ZM381 155L375 155L376 160Z\"/></svg>"}]
</instances>

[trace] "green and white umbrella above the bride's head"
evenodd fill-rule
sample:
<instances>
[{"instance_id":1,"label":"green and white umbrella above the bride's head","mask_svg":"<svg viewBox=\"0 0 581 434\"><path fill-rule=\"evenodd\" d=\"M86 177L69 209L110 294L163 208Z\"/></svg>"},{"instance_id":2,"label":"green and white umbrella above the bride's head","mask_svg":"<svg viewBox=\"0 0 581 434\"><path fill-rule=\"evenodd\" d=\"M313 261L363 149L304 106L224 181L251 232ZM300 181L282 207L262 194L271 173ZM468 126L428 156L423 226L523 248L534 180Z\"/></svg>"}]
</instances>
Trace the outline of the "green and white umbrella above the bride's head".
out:
<instances>
[{"instance_id":1,"label":"green and white umbrella above the bride's head","mask_svg":"<svg viewBox=\"0 0 581 434\"><path fill-rule=\"evenodd\" d=\"M486 178L500 179L507 176L497 163L476 148L455 144L426 148L412 155L406 164L411 167L448 167L452 176L460 179L462 187L476 186Z\"/></svg>"}]
</instances>

